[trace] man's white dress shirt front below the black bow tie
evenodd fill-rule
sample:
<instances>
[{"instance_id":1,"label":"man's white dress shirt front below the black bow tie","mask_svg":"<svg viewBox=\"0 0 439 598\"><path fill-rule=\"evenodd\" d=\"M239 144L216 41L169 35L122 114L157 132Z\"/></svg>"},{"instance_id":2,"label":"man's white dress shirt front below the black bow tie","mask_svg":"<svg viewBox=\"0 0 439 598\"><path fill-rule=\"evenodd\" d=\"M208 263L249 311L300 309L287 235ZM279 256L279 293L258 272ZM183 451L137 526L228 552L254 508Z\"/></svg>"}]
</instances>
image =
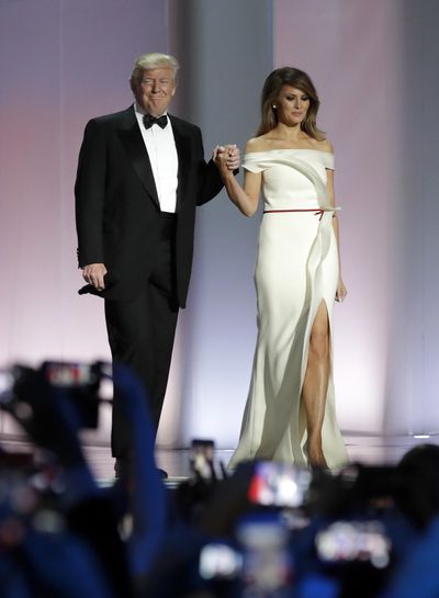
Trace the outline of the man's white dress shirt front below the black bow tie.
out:
<instances>
[{"instance_id":1,"label":"man's white dress shirt front below the black bow tie","mask_svg":"<svg viewBox=\"0 0 439 598\"><path fill-rule=\"evenodd\" d=\"M137 102L134 103L134 111L148 151L160 210L161 212L176 212L178 156L171 121L168 117L165 128L157 124L145 128L143 121L145 111Z\"/></svg>"}]
</instances>

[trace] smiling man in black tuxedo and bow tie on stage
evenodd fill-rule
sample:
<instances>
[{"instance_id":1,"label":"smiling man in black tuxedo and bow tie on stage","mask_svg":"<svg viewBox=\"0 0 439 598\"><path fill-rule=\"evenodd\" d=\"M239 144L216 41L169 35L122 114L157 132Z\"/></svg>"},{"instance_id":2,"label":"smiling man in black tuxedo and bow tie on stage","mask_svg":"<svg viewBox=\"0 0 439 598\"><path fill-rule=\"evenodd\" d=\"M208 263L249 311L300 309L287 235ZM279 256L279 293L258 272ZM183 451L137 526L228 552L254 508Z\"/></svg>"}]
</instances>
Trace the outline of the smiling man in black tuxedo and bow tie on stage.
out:
<instances>
[{"instance_id":1,"label":"smiling man in black tuxedo and bow tie on stage","mask_svg":"<svg viewBox=\"0 0 439 598\"><path fill-rule=\"evenodd\" d=\"M134 105L87 124L75 185L79 267L88 290L105 300L113 361L143 380L156 429L188 294L195 207L223 187L213 160L204 160L199 127L167 113L177 70L165 54L136 60ZM227 151L230 169L239 166L236 146L215 151ZM131 458L117 393L112 452L116 467Z\"/></svg>"}]
</instances>

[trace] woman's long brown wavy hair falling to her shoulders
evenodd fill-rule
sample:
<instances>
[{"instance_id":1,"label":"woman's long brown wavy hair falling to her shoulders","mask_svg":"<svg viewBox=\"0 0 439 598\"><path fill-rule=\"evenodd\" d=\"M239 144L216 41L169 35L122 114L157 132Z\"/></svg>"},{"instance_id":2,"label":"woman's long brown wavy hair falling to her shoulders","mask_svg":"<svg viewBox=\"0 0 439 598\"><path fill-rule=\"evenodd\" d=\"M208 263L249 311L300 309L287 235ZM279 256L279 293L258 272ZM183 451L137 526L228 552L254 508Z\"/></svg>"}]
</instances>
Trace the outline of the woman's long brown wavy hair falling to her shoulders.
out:
<instances>
[{"instance_id":1,"label":"woman's long brown wavy hair falling to her shoulders","mask_svg":"<svg viewBox=\"0 0 439 598\"><path fill-rule=\"evenodd\" d=\"M301 129L313 139L318 142L325 139L325 134L317 127L316 119L320 101L317 91L309 76L303 70L293 67L277 68L267 77L262 88L261 98L261 123L257 136L263 135L273 129L278 124L277 110L273 104L278 102L283 86L291 86L300 89L309 98L309 108L305 120L301 123Z\"/></svg>"}]
</instances>

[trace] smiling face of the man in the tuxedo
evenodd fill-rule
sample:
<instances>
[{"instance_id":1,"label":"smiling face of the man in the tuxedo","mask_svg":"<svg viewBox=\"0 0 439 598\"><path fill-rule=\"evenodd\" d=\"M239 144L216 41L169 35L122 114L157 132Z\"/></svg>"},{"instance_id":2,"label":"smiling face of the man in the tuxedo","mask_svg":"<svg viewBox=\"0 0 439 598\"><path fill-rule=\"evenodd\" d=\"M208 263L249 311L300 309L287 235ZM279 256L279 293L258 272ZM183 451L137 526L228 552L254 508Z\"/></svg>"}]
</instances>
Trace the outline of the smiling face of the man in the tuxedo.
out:
<instances>
[{"instance_id":1,"label":"smiling face of the man in the tuxedo","mask_svg":"<svg viewBox=\"0 0 439 598\"><path fill-rule=\"evenodd\" d=\"M151 116L161 116L176 93L172 69L145 69L142 78L133 83L133 92L145 112Z\"/></svg>"}]
</instances>

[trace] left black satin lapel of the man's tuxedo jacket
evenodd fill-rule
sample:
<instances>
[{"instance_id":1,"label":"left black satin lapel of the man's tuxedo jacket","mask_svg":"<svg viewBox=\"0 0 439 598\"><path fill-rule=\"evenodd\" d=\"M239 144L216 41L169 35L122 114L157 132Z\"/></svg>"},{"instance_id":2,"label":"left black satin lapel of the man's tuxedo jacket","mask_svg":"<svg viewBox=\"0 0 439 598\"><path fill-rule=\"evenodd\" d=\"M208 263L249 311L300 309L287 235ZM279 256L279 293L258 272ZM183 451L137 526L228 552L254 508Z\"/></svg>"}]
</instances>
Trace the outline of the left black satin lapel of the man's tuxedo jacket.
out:
<instances>
[{"instance_id":1,"label":"left black satin lapel of the man's tuxedo jacket","mask_svg":"<svg viewBox=\"0 0 439 598\"><path fill-rule=\"evenodd\" d=\"M154 203L159 207L160 204L158 201L149 156L146 150L142 133L138 128L137 119L134 114L133 106L126 111L126 126L121 128L117 133L126 153L130 156L134 170L137 172L137 176L142 181L142 184L153 199Z\"/></svg>"}]
</instances>

